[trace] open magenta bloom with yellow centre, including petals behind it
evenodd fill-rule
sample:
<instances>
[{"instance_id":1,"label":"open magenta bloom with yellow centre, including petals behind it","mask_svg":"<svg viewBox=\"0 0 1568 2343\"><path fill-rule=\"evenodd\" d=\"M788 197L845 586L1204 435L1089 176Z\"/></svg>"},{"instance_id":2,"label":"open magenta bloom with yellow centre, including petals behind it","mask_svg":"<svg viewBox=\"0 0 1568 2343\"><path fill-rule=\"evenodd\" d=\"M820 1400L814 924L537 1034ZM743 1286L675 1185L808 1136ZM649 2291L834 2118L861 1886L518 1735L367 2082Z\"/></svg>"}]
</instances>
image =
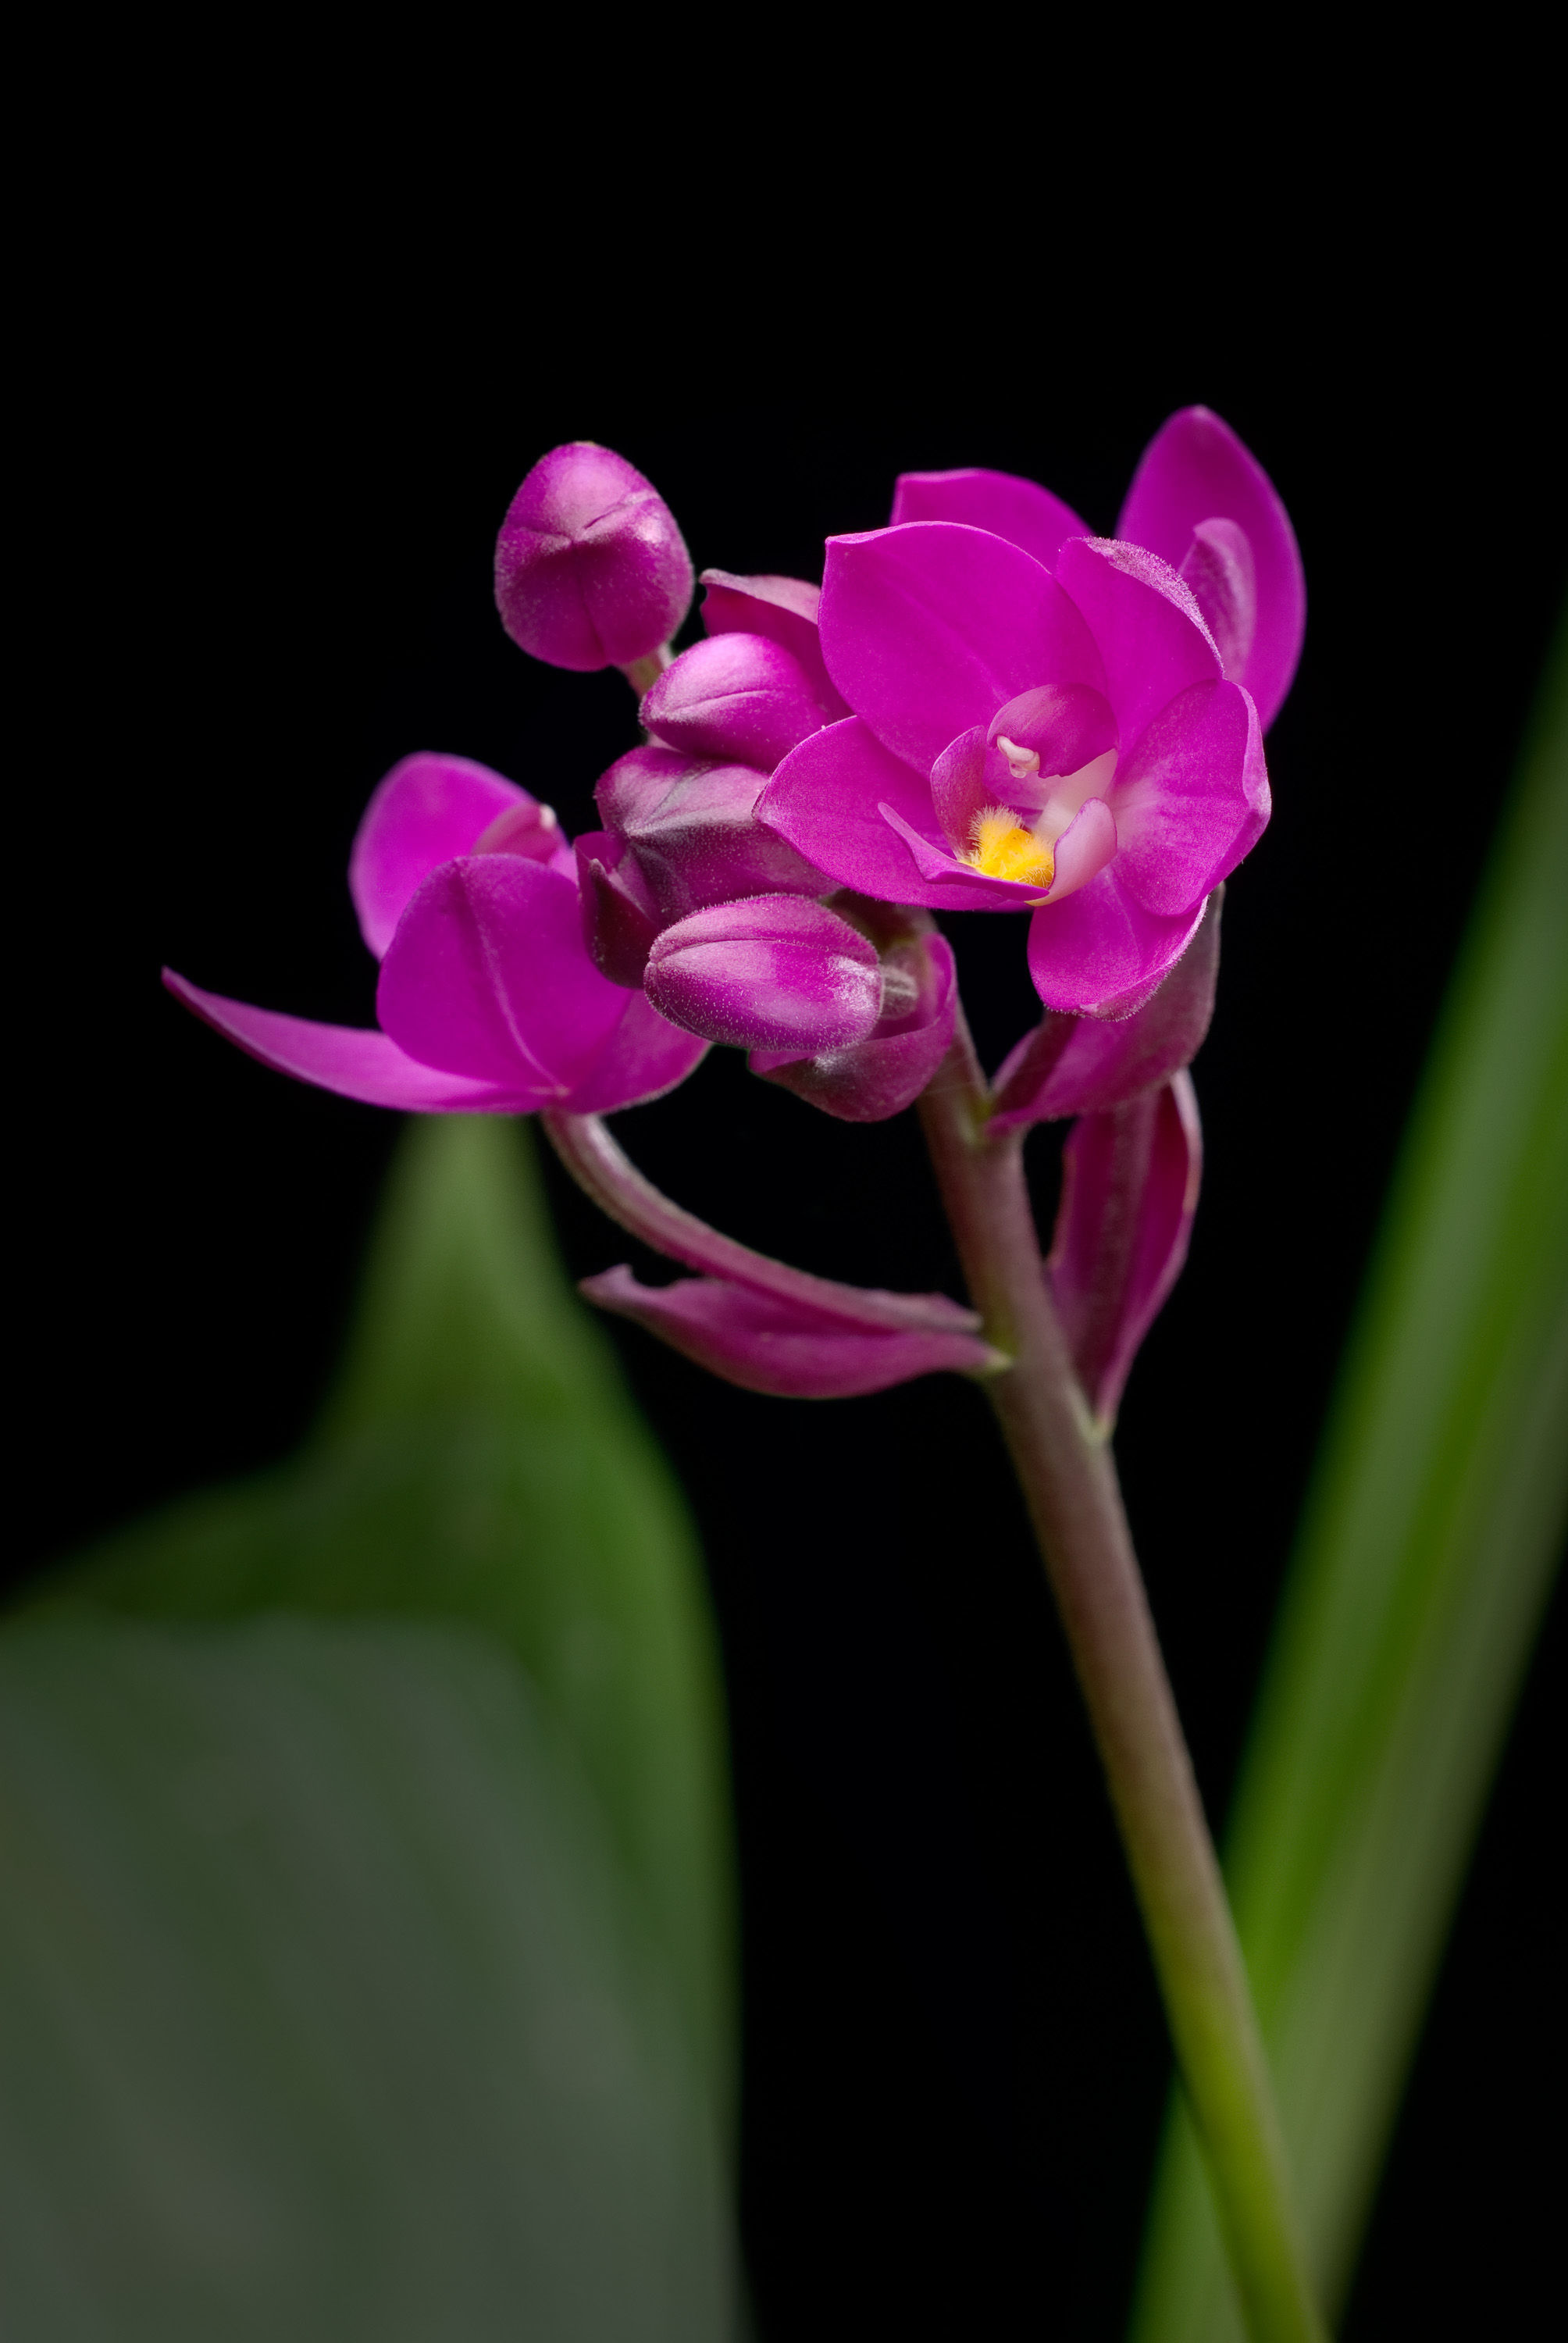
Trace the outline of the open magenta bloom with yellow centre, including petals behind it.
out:
<instances>
[{"instance_id":1,"label":"open magenta bloom with yellow centre, including petals behind it","mask_svg":"<svg viewBox=\"0 0 1568 2343\"><path fill-rule=\"evenodd\" d=\"M1078 534L1034 483L907 476L893 527L827 546L823 656L855 715L804 740L757 804L865 895L1031 909L1036 991L1099 1017L1151 996L1261 836L1242 677L1273 715L1305 612L1280 499L1202 410L1151 445L1130 525L1181 569Z\"/></svg>"}]
</instances>

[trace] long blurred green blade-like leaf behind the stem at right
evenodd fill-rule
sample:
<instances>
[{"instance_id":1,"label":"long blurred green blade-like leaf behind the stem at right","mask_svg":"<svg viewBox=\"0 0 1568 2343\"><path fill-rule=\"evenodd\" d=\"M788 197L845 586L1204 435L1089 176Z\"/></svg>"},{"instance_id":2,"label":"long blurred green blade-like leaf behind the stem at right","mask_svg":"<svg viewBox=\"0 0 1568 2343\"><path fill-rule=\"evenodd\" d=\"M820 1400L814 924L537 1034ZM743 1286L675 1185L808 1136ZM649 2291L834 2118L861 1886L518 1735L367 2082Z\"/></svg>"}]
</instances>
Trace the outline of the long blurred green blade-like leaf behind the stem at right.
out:
<instances>
[{"instance_id":1,"label":"long blurred green blade-like leaf behind the stem at right","mask_svg":"<svg viewBox=\"0 0 1568 2343\"><path fill-rule=\"evenodd\" d=\"M1329 2310L1350 2282L1552 1584L1566 1425L1559 637L1395 1176L1228 1832L1235 1919ZM1240 2338L1179 2099L1132 2334Z\"/></svg>"}]
</instances>

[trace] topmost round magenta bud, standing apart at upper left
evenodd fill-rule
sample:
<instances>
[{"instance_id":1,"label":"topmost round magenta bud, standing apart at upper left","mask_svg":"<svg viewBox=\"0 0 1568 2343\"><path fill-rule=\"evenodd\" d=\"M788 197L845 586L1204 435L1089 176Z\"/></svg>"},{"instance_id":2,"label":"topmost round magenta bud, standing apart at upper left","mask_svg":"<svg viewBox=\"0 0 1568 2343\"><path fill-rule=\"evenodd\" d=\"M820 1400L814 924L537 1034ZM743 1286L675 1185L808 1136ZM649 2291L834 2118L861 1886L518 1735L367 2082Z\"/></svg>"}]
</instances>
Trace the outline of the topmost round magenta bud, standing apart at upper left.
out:
<instances>
[{"instance_id":1,"label":"topmost round magenta bud, standing apart at upper left","mask_svg":"<svg viewBox=\"0 0 1568 2343\"><path fill-rule=\"evenodd\" d=\"M675 515L609 448L539 457L495 541L502 626L553 668L647 658L687 614L691 560Z\"/></svg>"}]
</instances>

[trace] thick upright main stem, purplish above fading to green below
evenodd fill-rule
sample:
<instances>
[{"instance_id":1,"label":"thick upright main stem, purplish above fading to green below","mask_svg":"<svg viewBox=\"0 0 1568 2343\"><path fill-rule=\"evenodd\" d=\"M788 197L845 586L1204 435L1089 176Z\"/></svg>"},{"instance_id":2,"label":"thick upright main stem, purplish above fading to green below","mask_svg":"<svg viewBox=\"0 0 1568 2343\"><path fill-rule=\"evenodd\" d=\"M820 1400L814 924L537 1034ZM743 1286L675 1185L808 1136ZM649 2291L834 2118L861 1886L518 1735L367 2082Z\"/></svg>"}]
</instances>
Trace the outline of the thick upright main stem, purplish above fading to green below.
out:
<instances>
[{"instance_id":1,"label":"thick upright main stem, purplish above fading to green below","mask_svg":"<svg viewBox=\"0 0 1568 2343\"><path fill-rule=\"evenodd\" d=\"M1322 2343L1247 1973L1106 1441L1041 1270L1022 1139L987 1136L959 1019L921 1122L970 1300L1013 1364L984 1378L1062 1612L1254 2343Z\"/></svg>"}]
</instances>

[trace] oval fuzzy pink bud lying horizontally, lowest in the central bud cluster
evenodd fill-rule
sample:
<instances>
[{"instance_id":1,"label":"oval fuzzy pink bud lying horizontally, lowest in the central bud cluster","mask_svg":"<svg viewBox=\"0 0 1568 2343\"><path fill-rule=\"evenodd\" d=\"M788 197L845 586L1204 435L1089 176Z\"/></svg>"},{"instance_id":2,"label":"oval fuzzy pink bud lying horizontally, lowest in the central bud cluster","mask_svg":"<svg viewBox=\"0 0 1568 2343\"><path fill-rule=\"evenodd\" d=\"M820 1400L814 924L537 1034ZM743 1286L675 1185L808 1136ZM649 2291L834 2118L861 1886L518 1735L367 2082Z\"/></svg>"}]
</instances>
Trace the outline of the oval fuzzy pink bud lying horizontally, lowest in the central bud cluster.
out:
<instances>
[{"instance_id":1,"label":"oval fuzzy pink bud lying horizontally, lowest in the central bud cluster","mask_svg":"<svg viewBox=\"0 0 1568 2343\"><path fill-rule=\"evenodd\" d=\"M839 1050L881 1015L877 947L799 895L677 921L654 944L645 986L670 1024L741 1050Z\"/></svg>"}]
</instances>

